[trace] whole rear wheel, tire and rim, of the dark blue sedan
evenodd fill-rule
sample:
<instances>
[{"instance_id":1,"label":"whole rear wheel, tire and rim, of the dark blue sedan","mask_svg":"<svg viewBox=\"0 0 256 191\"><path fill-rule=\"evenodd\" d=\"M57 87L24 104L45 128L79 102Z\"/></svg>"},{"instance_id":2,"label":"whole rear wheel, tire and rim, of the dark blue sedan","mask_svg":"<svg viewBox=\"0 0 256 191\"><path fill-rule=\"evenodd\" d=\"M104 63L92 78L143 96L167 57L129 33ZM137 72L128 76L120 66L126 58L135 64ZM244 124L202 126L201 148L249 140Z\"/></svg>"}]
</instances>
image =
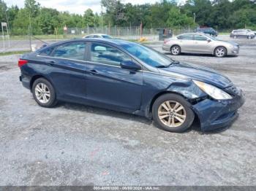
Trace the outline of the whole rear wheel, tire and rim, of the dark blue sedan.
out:
<instances>
[{"instance_id":1,"label":"whole rear wheel, tire and rim, of the dark blue sedan","mask_svg":"<svg viewBox=\"0 0 256 191\"><path fill-rule=\"evenodd\" d=\"M45 78L36 79L32 86L34 100L42 107L53 107L57 104L56 91Z\"/></svg>"}]
</instances>

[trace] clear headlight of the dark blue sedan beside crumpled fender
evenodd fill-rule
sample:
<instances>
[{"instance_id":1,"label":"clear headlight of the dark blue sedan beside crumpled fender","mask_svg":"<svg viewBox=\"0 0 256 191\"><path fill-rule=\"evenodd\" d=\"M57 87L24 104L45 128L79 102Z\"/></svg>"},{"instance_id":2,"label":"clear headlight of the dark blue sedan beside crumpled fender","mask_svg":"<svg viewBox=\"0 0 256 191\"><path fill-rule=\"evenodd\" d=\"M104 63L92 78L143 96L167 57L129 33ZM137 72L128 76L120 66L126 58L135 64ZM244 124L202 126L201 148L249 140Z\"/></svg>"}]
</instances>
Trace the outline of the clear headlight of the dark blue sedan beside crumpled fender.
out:
<instances>
[{"instance_id":1,"label":"clear headlight of the dark blue sedan beside crumpled fender","mask_svg":"<svg viewBox=\"0 0 256 191\"><path fill-rule=\"evenodd\" d=\"M204 82L198 82L195 80L193 80L193 82L195 82L195 84L198 87L200 87L201 90L203 90L205 93L207 93L214 99L219 99L219 100L232 99L231 95L229 95L228 93L225 93L225 91L223 90L220 90L218 87L215 87L213 85L208 85Z\"/></svg>"}]
</instances>

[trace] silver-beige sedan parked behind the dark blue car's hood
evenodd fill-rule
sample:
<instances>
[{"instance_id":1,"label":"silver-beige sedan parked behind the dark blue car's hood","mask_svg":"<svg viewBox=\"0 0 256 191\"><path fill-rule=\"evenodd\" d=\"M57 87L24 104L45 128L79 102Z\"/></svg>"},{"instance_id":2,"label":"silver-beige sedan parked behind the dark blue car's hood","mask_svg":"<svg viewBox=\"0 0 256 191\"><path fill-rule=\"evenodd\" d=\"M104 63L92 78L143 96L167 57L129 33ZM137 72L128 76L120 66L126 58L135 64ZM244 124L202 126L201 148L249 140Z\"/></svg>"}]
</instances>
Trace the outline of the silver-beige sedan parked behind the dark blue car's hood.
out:
<instances>
[{"instance_id":1,"label":"silver-beige sedan parked behind the dark blue car's hood","mask_svg":"<svg viewBox=\"0 0 256 191\"><path fill-rule=\"evenodd\" d=\"M225 55L238 55L239 45L235 42L221 41L207 34L189 33L166 39L162 50L170 51L172 55L186 52L211 54L221 58Z\"/></svg>"}]
</instances>

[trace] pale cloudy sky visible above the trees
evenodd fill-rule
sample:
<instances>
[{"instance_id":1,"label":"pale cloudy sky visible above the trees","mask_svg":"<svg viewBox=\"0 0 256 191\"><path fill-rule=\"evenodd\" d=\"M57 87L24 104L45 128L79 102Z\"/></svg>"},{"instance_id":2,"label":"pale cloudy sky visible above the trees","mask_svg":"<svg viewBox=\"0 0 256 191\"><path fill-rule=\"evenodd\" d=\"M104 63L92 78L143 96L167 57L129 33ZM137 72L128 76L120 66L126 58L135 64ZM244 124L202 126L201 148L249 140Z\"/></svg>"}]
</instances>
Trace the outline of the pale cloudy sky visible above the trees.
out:
<instances>
[{"instance_id":1,"label":"pale cloudy sky visible above the trees","mask_svg":"<svg viewBox=\"0 0 256 191\"><path fill-rule=\"evenodd\" d=\"M17 0L4 0L7 6L18 5L23 7L24 1ZM68 11L71 13L83 14L86 9L92 9L94 12L101 12L100 1L101 0L36 0L42 7L50 7L59 11ZM160 0L121 0L123 3L131 4L154 4ZM185 0L178 0L178 3L182 3Z\"/></svg>"}]
</instances>

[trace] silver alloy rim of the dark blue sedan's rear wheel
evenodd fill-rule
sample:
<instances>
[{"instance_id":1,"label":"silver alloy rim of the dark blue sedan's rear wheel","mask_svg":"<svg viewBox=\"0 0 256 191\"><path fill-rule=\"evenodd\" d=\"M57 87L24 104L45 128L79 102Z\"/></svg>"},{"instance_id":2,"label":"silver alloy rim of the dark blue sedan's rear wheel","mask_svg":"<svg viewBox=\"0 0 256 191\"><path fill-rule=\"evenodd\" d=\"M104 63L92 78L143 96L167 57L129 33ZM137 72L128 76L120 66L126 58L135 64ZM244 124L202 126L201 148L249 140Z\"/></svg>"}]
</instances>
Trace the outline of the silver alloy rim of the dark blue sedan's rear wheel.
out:
<instances>
[{"instance_id":1,"label":"silver alloy rim of the dark blue sedan's rear wheel","mask_svg":"<svg viewBox=\"0 0 256 191\"><path fill-rule=\"evenodd\" d=\"M48 101L50 101L50 90L47 85L44 83L39 83L34 89L35 95L37 97L37 100L42 103L46 104Z\"/></svg>"}]
</instances>

